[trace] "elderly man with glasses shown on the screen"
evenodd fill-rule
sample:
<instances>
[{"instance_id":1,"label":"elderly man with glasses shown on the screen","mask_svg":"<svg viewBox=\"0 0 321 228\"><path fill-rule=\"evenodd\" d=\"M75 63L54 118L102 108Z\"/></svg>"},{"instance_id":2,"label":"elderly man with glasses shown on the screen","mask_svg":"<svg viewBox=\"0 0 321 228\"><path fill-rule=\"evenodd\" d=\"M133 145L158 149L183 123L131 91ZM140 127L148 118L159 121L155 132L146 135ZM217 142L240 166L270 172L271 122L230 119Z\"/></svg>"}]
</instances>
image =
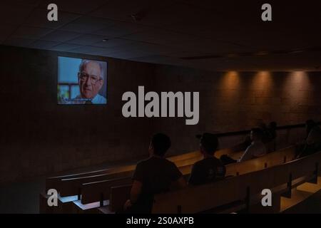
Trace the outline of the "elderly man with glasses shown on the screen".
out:
<instances>
[{"instance_id":1,"label":"elderly man with glasses shown on the screen","mask_svg":"<svg viewBox=\"0 0 321 228\"><path fill-rule=\"evenodd\" d=\"M103 67L101 63L82 60L79 66L78 83L80 95L71 100L73 104L106 104L106 98L98 92L103 87Z\"/></svg>"}]
</instances>

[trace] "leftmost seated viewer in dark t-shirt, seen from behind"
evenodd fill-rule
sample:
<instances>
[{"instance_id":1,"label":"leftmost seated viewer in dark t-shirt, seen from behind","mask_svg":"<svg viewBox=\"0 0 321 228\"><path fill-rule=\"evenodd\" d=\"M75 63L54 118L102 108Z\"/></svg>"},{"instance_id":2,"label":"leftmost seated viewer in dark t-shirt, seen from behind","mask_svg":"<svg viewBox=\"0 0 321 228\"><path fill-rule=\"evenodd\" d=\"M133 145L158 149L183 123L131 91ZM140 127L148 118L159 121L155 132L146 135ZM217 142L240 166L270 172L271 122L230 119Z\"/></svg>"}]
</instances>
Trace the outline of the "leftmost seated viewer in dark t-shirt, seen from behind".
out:
<instances>
[{"instance_id":1,"label":"leftmost seated viewer in dark t-shirt, seen from behind","mask_svg":"<svg viewBox=\"0 0 321 228\"><path fill-rule=\"evenodd\" d=\"M155 194L186 186L178 167L164 157L170 145L167 135L153 135L148 149L150 157L136 166L131 197L125 203L123 213L151 213Z\"/></svg>"}]
</instances>

